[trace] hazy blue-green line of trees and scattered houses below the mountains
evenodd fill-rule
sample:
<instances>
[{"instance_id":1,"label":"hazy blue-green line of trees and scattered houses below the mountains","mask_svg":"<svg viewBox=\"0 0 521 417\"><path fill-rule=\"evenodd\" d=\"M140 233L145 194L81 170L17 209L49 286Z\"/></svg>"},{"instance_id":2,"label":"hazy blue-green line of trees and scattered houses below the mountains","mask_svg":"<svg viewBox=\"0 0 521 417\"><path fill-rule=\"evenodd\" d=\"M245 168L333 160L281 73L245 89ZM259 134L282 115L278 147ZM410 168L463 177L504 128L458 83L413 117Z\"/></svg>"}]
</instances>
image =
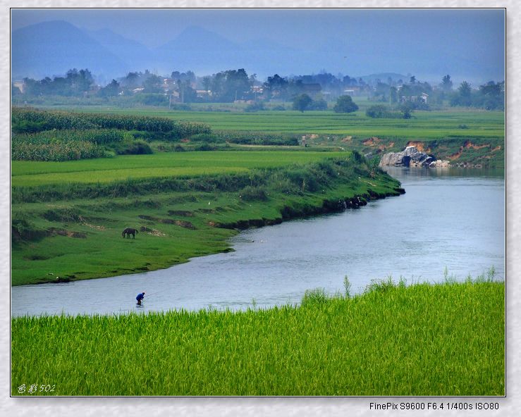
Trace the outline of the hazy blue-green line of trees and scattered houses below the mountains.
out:
<instances>
[{"instance_id":1,"label":"hazy blue-green line of trees and scattered houses below the mountains","mask_svg":"<svg viewBox=\"0 0 521 417\"><path fill-rule=\"evenodd\" d=\"M68 70L66 75L44 77L34 80L23 79L23 96L25 97L109 97L132 96L137 92L142 94L143 104L165 105L175 97L180 103L202 102L233 102L243 101L293 101L293 108L298 110L324 110L326 99L348 95L346 91L356 91L364 94L372 101L379 101L398 106L404 102L413 103L411 109L428 110L429 104L441 106L472 106L487 110L504 109L505 82L490 81L477 88L463 81L453 88L450 75L444 75L438 85L422 82L413 75L408 81L392 80L386 82L376 79L365 82L362 78L335 76L330 73L314 75L293 75L281 77L274 74L264 82L257 80L257 75L248 75L243 68L224 70L212 75L197 77L188 70L172 71L167 77L144 72L130 72L124 77L113 79L104 87L99 87L94 76L88 69ZM13 96L22 93L12 85ZM324 94L326 93L326 94ZM334 94L331 94L334 93ZM428 102L417 99L427 94ZM311 99L311 101L308 100ZM262 104L252 106L252 111L262 109Z\"/></svg>"}]
</instances>

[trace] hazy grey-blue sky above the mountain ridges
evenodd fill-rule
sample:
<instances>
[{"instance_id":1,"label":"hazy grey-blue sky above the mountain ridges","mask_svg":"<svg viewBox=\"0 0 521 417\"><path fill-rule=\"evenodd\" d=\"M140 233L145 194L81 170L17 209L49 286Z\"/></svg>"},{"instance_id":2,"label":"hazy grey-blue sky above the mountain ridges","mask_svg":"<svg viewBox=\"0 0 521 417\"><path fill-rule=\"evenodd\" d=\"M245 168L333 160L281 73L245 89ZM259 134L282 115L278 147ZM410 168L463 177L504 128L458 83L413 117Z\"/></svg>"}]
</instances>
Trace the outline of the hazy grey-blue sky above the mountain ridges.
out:
<instances>
[{"instance_id":1,"label":"hazy grey-blue sky above the mountain ridges","mask_svg":"<svg viewBox=\"0 0 521 417\"><path fill-rule=\"evenodd\" d=\"M46 20L66 20L89 30L110 27L149 47L165 43L190 25L235 41L266 38L288 46L319 44L345 31L375 39L409 37L411 42L413 37L472 35L479 42L501 46L504 32L500 9L16 9L11 28Z\"/></svg>"}]
</instances>

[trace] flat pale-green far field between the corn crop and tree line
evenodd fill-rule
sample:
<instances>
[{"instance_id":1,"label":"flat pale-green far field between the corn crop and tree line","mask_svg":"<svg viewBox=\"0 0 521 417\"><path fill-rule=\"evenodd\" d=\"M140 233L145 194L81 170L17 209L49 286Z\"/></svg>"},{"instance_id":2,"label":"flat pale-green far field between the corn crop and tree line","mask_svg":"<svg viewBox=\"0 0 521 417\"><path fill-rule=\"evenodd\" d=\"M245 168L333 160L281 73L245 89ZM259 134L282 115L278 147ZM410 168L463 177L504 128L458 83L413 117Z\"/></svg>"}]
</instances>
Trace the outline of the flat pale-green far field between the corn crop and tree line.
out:
<instances>
[{"instance_id":1,"label":"flat pale-green far field between the corn crop and tree line","mask_svg":"<svg viewBox=\"0 0 521 417\"><path fill-rule=\"evenodd\" d=\"M161 108L118 109L83 107L78 111L161 116L179 121L208 123L213 130L250 132L290 132L331 134L388 139L443 139L445 137L503 138L505 113L502 111L415 111L404 119L374 119L364 111L352 114L333 111L259 111L257 113L218 111L168 111ZM460 125L465 125L462 129Z\"/></svg>"}]
</instances>

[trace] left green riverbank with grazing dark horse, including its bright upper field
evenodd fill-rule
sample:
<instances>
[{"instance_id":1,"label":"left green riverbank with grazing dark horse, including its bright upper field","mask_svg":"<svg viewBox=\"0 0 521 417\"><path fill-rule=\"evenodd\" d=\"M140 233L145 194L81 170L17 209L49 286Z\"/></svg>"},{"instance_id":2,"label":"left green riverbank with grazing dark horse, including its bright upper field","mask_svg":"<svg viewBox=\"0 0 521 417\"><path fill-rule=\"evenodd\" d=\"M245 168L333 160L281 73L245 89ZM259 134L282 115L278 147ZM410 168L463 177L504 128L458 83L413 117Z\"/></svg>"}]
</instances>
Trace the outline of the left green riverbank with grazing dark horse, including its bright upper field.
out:
<instances>
[{"instance_id":1,"label":"left green riverbank with grazing dark horse, including its bright upper field","mask_svg":"<svg viewBox=\"0 0 521 417\"><path fill-rule=\"evenodd\" d=\"M350 152L13 161L12 181L12 285L166 268L229 249L236 229L400 194L398 181ZM122 238L129 227L135 239Z\"/></svg>"}]
</instances>

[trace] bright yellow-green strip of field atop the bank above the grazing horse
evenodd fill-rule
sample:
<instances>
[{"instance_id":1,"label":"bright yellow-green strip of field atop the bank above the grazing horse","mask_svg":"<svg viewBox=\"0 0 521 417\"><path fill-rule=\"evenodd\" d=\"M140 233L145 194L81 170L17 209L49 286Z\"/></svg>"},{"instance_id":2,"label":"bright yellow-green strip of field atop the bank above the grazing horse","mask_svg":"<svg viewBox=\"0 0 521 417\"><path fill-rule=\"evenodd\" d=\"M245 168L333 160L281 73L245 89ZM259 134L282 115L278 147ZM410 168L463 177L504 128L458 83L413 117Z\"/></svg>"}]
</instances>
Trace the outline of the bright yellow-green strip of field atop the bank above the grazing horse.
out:
<instances>
[{"instance_id":1,"label":"bright yellow-green strip of field atop the bank above the grazing horse","mask_svg":"<svg viewBox=\"0 0 521 417\"><path fill-rule=\"evenodd\" d=\"M341 155L345 155L345 152L226 151L128 155L63 162L12 161L11 185L18 187L111 182L129 178L193 177L317 162L325 157Z\"/></svg>"}]
</instances>

